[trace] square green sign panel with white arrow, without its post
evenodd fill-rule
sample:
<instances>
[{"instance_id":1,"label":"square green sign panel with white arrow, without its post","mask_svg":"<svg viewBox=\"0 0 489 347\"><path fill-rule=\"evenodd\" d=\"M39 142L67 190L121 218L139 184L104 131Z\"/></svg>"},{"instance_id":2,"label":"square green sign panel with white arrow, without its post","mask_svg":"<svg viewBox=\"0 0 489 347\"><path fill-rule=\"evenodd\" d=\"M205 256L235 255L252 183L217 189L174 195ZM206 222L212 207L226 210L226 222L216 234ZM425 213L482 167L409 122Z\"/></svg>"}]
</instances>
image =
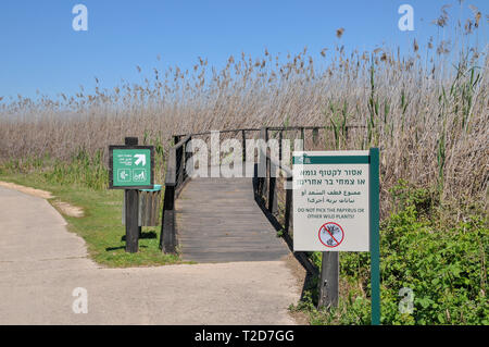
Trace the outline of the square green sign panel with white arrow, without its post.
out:
<instances>
[{"instance_id":1,"label":"square green sign panel with white arrow, without its post","mask_svg":"<svg viewBox=\"0 0 489 347\"><path fill-rule=\"evenodd\" d=\"M151 189L153 187L152 146L110 146L110 188Z\"/></svg>"}]
</instances>

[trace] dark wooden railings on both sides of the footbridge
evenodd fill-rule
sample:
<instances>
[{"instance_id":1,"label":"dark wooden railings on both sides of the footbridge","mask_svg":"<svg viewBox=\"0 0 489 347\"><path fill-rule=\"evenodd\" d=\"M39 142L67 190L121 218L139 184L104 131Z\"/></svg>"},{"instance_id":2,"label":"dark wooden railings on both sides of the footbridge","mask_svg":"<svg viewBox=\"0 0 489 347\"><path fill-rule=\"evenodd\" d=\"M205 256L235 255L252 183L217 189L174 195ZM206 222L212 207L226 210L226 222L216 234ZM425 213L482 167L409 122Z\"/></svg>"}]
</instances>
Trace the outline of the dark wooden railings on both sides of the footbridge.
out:
<instances>
[{"instance_id":1,"label":"dark wooden railings on both sides of the footbridge","mask_svg":"<svg viewBox=\"0 0 489 347\"><path fill-rule=\"evenodd\" d=\"M347 125L342 128L344 140L348 140L352 129L364 128L362 125ZM333 127L324 126L268 126L262 128L238 128L220 131L220 134L240 134L242 145L242 161L247 160L247 134L260 132L259 138L265 142L268 141L271 134L278 136L278 161L272 158L267 147L260 147L258 163L255 163L253 176L253 189L256 202L267 213L268 220L274 224L277 231L281 231L286 241L291 248L292 235L290 235L292 226L292 172L291 162L283 162L283 139L284 133L299 133L299 138L303 140L303 149L305 150L306 140L311 140L311 146L318 145L319 131L333 129ZM305 132L311 131L312 136L305 137ZM165 194L163 201L163 214L161 224L160 247L165 253L175 253L177 249L177 235L175 227L175 199L178 197L181 188L190 178L187 174L186 165L188 159L192 156L188 147L190 140L196 137L209 136L212 132L195 133L189 135L175 135L174 147L170 149L165 175ZM325 136L326 137L326 136ZM297 137L296 137L297 138ZM310 142L311 142L310 141ZM324 147L323 147L324 148ZM253 156L254 160L254 156ZM272 174L281 172L281 175ZM278 182L277 182L278 179ZM284 188L284 181L287 181L289 188ZM300 253L299 256L301 256ZM305 258L304 258L305 259ZM302 262L302 261L301 261ZM312 273L317 270L311 264L303 263Z\"/></svg>"}]
</instances>

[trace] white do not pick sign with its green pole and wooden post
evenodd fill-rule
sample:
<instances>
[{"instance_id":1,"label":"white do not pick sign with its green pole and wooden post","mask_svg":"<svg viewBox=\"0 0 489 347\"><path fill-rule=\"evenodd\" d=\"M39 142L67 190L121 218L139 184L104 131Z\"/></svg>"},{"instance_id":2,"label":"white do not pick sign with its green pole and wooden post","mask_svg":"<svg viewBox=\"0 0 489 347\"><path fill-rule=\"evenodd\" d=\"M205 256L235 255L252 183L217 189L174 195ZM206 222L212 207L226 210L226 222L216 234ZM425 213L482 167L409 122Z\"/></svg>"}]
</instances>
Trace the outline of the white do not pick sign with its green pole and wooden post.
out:
<instances>
[{"instance_id":1,"label":"white do not pick sign with its green pole and wooden post","mask_svg":"<svg viewBox=\"0 0 489 347\"><path fill-rule=\"evenodd\" d=\"M340 251L369 251L372 324L380 323L379 170L369 151L293 152L293 250L322 251L319 307L338 305Z\"/></svg>"}]
</instances>

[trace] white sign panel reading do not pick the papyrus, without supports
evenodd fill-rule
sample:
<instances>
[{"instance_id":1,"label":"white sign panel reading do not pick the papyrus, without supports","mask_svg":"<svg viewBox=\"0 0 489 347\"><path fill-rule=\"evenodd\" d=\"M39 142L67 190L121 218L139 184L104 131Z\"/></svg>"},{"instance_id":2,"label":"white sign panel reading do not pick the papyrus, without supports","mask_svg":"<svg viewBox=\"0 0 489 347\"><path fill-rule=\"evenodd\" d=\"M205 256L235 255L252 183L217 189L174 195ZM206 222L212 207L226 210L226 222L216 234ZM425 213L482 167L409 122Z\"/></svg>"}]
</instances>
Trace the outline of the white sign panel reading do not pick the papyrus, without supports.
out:
<instances>
[{"instance_id":1,"label":"white sign panel reading do not pick the papyrus, without supports","mask_svg":"<svg viewBox=\"0 0 489 347\"><path fill-rule=\"evenodd\" d=\"M293 152L293 250L368 251L368 151Z\"/></svg>"}]
</instances>

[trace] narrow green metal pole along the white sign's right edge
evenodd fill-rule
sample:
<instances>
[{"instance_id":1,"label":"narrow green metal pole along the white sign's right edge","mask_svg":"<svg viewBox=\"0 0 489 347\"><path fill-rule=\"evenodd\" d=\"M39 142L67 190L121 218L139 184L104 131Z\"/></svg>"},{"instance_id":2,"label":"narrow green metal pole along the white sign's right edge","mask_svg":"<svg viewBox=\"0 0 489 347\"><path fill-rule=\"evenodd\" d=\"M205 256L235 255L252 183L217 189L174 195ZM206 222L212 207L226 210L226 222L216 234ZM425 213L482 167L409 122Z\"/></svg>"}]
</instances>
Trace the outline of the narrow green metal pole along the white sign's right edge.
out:
<instances>
[{"instance_id":1,"label":"narrow green metal pole along the white sign's right edge","mask_svg":"<svg viewBox=\"0 0 489 347\"><path fill-rule=\"evenodd\" d=\"M372 325L380 324L380 245L379 245L379 150L371 148L369 220L371 220L371 286Z\"/></svg>"}]
</instances>

